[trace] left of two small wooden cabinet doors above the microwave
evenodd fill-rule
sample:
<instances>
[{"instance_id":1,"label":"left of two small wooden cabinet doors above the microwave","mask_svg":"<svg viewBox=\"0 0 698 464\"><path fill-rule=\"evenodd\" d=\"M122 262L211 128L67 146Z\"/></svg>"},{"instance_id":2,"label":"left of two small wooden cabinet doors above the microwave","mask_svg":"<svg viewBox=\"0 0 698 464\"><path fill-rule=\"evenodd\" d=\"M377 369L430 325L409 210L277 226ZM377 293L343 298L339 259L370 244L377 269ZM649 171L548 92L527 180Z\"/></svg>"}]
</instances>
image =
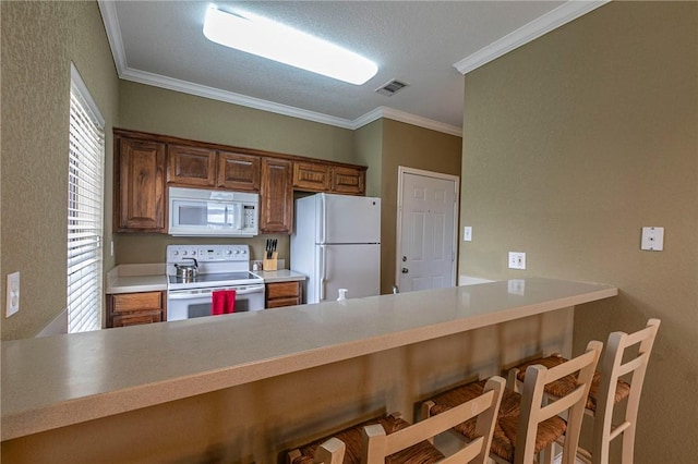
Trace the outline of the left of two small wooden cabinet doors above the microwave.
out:
<instances>
[{"instance_id":1,"label":"left of two small wooden cabinet doors above the microwave","mask_svg":"<svg viewBox=\"0 0 698 464\"><path fill-rule=\"evenodd\" d=\"M213 186L216 151L183 145L167 146L167 181L182 185Z\"/></svg>"}]
</instances>

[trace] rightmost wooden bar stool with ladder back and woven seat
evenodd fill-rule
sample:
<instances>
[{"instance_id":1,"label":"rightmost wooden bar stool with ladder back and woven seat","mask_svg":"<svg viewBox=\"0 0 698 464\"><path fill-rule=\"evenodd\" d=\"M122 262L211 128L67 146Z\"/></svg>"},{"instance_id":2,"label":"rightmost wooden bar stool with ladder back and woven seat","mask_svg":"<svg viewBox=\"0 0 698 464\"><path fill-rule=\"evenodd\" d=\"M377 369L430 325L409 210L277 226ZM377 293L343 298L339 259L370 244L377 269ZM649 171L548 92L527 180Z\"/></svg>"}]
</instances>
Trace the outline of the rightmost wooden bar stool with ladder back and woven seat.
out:
<instances>
[{"instance_id":1,"label":"rightmost wooden bar stool with ladder back and woven seat","mask_svg":"<svg viewBox=\"0 0 698 464\"><path fill-rule=\"evenodd\" d=\"M581 448L578 450L578 455L583 461L607 464L611 442L623 435L621 462L622 464L633 463L640 394L660 322L659 319L650 319L645 329L635 333L613 332L609 335L603 359L600 363L600 373L594 374L587 399L586 413L593 417L593 444L591 453ZM638 346L637 354L633 353L633 356L626 354L626 350L635 345ZM509 370L509 387L525 381L526 369L530 365L553 367L565 361L561 355L552 355L517 366ZM625 376L629 376L627 379L629 382L621 380L621 377ZM555 399L565 394L570 388L573 384L569 379L562 378L549 384L545 393L551 399ZM614 406L624 400L627 400L627 404L623 422L614 426L612 424Z\"/></svg>"}]
</instances>

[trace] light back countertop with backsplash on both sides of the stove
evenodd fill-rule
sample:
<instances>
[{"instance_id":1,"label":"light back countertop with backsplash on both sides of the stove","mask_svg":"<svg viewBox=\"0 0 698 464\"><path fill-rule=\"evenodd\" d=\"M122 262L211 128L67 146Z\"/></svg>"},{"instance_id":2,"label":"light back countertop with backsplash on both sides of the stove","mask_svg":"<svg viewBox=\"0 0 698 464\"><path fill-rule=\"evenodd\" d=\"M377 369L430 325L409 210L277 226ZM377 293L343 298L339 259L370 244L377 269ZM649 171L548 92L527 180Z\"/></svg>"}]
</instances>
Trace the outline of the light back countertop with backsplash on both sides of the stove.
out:
<instances>
[{"instance_id":1,"label":"light back countertop with backsplash on both sides of the stove","mask_svg":"<svg viewBox=\"0 0 698 464\"><path fill-rule=\"evenodd\" d=\"M288 269L255 271L264 283L305 280L305 276ZM120 265L107 272L105 293L139 293L167 290L165 265Z\"/></svg>"}]
</instances>

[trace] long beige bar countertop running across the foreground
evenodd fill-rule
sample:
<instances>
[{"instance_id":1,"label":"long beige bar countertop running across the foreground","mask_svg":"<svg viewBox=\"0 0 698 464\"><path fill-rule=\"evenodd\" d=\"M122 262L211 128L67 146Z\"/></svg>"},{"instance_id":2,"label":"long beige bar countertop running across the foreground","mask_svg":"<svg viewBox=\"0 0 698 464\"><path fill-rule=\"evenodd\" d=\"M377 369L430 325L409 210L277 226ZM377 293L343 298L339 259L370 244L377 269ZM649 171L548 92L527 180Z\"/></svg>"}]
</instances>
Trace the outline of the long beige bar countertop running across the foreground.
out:
<instances>
[{"instance_id":1,"label":"long beige bar countertop running across the foreground","mask_svg":"<svg viewBox=\"0 0 698 464\"><path fill-rule=\"evenodd\" d=\"M2 342L2 440L615 296L530 278ZM147 355L143 355L147 353Z\"/></svg>"}]
</instances>

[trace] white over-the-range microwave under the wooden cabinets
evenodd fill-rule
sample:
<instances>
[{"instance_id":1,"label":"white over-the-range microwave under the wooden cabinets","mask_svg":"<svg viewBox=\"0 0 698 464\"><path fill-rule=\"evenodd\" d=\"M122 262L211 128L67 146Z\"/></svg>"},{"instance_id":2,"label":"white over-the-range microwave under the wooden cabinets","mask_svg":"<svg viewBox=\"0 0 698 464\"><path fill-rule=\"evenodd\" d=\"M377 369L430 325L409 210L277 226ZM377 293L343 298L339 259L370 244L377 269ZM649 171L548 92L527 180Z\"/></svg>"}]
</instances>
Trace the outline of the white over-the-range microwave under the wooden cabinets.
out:
<instances>
[{"instance_id":1,"label":"white over-the-range microwave under the wooden cabinets","mask_svg":"<svg viewBox=\"0 0 698 464\"><path fill-rule=\"evenodd\" d=\"M169 187L169 234L178 236L254 236L258 234L260 195Z\"/></svg>"}]
</instances>

